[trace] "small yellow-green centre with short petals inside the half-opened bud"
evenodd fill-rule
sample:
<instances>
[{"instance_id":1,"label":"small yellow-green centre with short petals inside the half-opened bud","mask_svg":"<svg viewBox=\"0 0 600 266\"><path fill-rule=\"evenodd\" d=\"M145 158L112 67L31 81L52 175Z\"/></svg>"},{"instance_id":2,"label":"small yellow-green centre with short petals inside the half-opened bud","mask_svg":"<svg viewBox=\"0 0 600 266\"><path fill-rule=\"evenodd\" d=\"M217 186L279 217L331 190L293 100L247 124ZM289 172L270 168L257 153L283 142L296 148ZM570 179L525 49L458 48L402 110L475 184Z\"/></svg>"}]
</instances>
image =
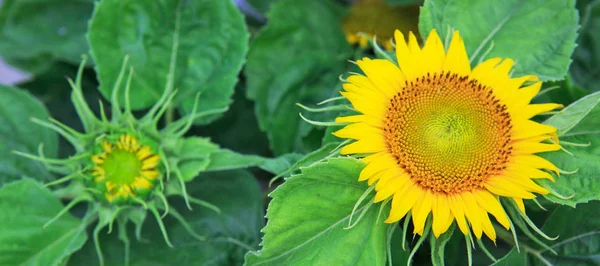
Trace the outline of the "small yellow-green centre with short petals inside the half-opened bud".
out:
<instances>
[{"instance_id":1,"label":"small yellow-green centre with short petals inside the half-opened bud","mask_svg":"<svg viewBox=\"0 0 600 266\"><path fill-rule=\"evenodd\" d=\"M109 202L144 196L154 187L159 176L160 160L149 146L129 134L121 135L115 142L103 141L102 151L92 156L94 182L104 184L104 196Z\"/></svg>"}]
</instances>

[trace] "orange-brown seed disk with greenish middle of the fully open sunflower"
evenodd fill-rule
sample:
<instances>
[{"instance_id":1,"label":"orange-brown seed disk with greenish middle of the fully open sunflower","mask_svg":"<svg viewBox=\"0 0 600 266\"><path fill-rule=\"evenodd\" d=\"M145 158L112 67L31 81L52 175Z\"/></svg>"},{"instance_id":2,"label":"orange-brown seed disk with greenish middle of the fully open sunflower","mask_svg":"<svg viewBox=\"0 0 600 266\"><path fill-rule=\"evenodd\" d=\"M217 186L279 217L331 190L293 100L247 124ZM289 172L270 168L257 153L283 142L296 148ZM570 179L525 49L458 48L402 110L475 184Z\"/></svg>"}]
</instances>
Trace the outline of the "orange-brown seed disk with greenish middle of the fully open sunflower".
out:
<instances>
[{"instance_id":1,"label":"orange-brown seed disk with greenish middle of the fully open sunflower","mask_svg":"<svg viewBox=\"0 0 600 266\"><path fill-rule=\"evenodd\" d=\"M506 106L490 88L443 73L407 83L391 100L385 138L417 184L455 193L482 187L504 168L510 128Z\"/></svg>"}]
</instances>

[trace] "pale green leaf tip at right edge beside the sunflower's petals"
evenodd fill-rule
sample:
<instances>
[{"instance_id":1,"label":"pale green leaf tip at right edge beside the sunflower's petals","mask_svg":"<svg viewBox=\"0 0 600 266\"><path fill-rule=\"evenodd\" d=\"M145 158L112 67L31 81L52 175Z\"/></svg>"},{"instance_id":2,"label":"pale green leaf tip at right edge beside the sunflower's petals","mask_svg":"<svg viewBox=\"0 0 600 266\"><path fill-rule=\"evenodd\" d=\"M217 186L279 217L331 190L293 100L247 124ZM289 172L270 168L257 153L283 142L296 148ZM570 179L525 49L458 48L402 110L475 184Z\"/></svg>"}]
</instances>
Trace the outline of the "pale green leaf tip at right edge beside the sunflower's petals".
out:
<instances>
[{"instance_id":1,"label":"pale green leaf tip at right edge beside the sunflower's petals","mask_svg":"<svg viewBox=\"0 0 600 266\"><path fill-rule=\"evenodd\" d=\"M559 114L546 119L544 124L555 127L558 136L599 133L598 103L600 103L600 92L587 95L565 107Z\"/></svg>"}]
</instances>

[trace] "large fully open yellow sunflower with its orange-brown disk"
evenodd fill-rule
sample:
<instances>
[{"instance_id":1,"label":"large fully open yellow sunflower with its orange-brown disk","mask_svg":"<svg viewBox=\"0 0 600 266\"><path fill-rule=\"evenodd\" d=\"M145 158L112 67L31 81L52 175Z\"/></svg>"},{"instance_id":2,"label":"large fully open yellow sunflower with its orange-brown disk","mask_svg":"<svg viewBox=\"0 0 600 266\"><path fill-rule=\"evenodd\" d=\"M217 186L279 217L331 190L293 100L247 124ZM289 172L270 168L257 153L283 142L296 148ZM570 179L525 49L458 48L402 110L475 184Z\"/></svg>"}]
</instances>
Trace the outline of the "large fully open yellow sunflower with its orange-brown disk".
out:
<instances>
[{"instance_id":1,"label":"large fully open yellow sunflower with its orange-brown disk","mask_svg":"<svg viewBox=\"0 0 600 266\"><path fill-rule=\"evenodd\" d=\"M395 41L399 66L364 58L357 64L365 75L343 86L361 114L336 119L347 124L334 135L356 140L340 152L364 156L359 181L375 186L375 202L391 201L386 223L410 213L413 233L423 235L431 213L435 237L456 221L465 235L495 241L489 214L512 224L500 198L524 213L523 199L548 193L535 179L559 173L535 155L561 148L556 129L531 118L562 106L530 104L541 82L512 78L511 59L472 69L458 31L447 50L435 30L422 48L412 32L406 42L396 31Z\"/></svg>"}]
</instances>

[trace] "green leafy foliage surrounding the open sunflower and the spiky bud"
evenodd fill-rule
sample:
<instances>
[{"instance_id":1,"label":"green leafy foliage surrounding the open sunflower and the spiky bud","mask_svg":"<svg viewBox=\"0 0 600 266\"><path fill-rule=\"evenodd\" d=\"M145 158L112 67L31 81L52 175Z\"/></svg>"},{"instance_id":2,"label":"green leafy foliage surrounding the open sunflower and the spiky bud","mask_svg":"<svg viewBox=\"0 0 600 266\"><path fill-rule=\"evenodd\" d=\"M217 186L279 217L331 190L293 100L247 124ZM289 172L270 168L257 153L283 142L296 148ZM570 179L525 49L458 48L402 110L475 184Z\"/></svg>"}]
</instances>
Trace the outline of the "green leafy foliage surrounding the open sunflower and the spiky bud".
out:
<instances>
[{"instance_id":1,"label":"green leafy foliage surrounding the open sunflower and the spiky bud","mask_svg":"<svg viewBox=\"0 0 600 266\"><path fill-rule=\"evenodd\" d=\"M135 114L144 114L169 86L177 94L161 125L191 113L196 98L198 110L208 114L194 121L177 152L194 158L180 165L188 193L222 212L190 211L182 200L169 198L208 239L199 241L165 218L175 246L170 248L156 222L143 224L140 240L130 224L125 228L130 265L399 266L419 246L413 265L466 265L467 243L459 233L421 243L410 236L410 225L382 222L388 207L368 208L369 200L355 206L368 188L356 181L364 164L332 154L341 142L330 135L332 129L298 116L335 119L341 112L308 113L296 103L314 107L338 96L338 77L359 71L349 60L386 56L347 43L341 21L349 2L2 1L0 57L31 77L0 85L0 266L99 263L89 241L95 221L84 217L83 205L42 228L70 199L43 185L60 175L13 152L73 154L66 140L32 120L53 117L83 129L65 77L75 77L84 54L91 60L83 72L83 94L96 114L101 106L110 110L125 56L134 71ZM473 264L600 265L600 1L386 2L422 6L419 21L407 22L418 23L421 39L432 29L442 40L459 30L473 66L510 57L516 61L514 76L538 75L545 84L534 101L566 108L536 119L557 127L563 143L590 143L544 154L570 174L540 181L555 192L539 198L545 210L526 204L534 223L560 236L543 242L557 253L522 232L517 250L512 235L499 232L497 243L482 243L497 261L476 249ZM124 86L120 89L123 102ZM355 207L355 215L364 217L349 229L357 219L350 217ZM122 265L119 238L101 232L105 265Z\"/></svg>"}]
</instances>

